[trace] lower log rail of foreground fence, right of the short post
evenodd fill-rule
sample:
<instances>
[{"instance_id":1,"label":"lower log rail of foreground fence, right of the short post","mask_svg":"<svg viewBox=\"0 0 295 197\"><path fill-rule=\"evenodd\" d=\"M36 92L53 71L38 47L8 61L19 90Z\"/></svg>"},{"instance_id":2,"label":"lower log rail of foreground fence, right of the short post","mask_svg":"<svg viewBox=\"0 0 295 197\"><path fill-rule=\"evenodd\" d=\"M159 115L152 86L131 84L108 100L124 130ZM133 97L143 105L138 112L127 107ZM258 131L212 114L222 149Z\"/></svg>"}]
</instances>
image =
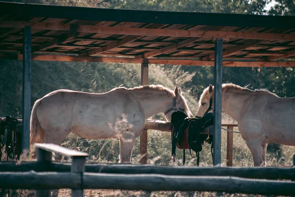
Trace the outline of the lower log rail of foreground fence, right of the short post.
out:
<instances>
[{"instance_id":1,"label":"lower log rail of foreground fence, right of the short post","mask_svg":"<svg viewBox=\"0 0 295 197\"><path fill-rule=\"evenodd\" d=\"M124 183L124 184L122 184ZM261 195L294 194L295 182L251 180L237 177L167 176L142 174L89 174L84 175L89 189L121 189L143 191L209 191Z\"/></svg>"}]
</instances>

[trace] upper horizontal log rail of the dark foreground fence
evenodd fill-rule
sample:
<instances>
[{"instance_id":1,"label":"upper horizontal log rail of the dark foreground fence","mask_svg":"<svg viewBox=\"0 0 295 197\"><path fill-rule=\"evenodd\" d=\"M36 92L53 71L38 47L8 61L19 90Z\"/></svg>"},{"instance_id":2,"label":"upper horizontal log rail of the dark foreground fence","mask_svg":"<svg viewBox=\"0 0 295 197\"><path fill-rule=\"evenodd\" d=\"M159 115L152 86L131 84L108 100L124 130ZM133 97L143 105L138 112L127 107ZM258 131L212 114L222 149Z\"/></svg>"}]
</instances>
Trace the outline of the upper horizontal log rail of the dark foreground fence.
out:
<instances>
[{"instance_id":1,"label":"upper horizontal log rail of the dark foreground fence","mask_svg":"<svg viewBox=\"0 0 295 197\"><path fill-rule=\"evenodd\" d=\"M70 172L70 163L0 163L0 172L26 171L55 171ZM183 176L236 176L255 179L294 179L295 167L184 167L184 166L156 166L148 164L86 164L85 172L113 173L113 174L163 174Z\"/></svg>"}]
</instances>

